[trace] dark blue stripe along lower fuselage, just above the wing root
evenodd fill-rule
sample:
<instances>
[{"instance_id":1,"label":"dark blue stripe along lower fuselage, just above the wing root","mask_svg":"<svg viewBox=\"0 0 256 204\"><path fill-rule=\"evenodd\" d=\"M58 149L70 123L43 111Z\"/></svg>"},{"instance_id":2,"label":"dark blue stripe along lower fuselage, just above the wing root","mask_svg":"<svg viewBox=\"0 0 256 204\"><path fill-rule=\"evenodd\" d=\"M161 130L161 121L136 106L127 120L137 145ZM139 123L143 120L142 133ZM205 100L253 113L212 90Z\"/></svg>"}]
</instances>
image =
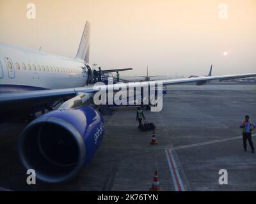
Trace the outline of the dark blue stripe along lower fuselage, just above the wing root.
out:
<instances>
[{"instance_id":1,"label":"dark blue stripe along lower fuselage, just above the wing root","mask_svg":"<svg viewBox=\"0 0 256 204\"><path fill-rule=\"evenodd\" d=\"M4 94L7 92L39 91L39 90L45 90L45 88L31 87L28 85L6 85L6 84L0 85L0 94Z\"/></svg>"}]
</instances>

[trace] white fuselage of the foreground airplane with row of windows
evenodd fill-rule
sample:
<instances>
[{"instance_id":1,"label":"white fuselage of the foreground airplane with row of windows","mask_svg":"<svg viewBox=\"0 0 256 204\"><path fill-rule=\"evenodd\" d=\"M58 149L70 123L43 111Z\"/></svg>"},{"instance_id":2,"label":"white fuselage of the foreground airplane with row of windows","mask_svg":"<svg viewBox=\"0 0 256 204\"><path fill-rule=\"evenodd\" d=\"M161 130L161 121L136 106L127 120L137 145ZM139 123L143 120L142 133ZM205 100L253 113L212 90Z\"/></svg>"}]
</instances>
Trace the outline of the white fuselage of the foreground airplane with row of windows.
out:
<instances>
[{"instance_id":1,"label":"white fuselage of the foreground airplane with row of windows","mask_svg":"<svg viewBox=\"0 0 256 204\"><path fill-rule=\"evenodd\" d=\"M0 92L83 87L84 62L0 43Z\"/></svg>"}]
</instances>

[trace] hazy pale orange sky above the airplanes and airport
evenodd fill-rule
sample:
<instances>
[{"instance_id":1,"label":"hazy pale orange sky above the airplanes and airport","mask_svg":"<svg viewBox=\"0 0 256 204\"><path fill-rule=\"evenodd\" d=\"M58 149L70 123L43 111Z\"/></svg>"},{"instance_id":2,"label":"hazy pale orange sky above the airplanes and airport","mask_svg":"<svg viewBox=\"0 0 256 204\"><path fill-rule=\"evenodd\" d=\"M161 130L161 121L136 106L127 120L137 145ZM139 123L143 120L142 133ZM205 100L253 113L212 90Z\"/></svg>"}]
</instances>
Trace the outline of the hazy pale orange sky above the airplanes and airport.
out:
<instances>
[{"instance_id":1,"label":"hazy pale orange sky above the airplanes and airport","mask_svg":"<svg viewBox=\"0 0 256 204\"><path fill-rule=\"evenodd\" d=\"M35 19L26 16L28 3ZM102 68L190 75L213 64L214 75L256 72L255 0L0 0L0 41L74 57L86 20L90 63Z\"/></svg>"}]
</instances>

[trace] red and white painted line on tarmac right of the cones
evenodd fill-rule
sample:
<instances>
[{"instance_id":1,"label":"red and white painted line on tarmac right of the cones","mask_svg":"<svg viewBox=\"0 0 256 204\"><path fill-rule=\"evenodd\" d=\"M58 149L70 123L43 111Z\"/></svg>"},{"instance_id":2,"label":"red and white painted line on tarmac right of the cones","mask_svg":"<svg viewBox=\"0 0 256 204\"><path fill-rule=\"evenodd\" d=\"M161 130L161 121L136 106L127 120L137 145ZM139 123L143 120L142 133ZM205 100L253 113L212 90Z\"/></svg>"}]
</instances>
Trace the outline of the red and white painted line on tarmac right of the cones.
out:
<instances>
[{"instance_id":1,"label":"red and white painted line on tarmac right of the cones","mask_svg":"<svg viewBox=\"0 0 256 204\"><path fill-rule=\"evenodd\" d=\"M179 170L173 158L172 150L165 150L165 154L172 175L175 191L185 191L184 186L182 184L182 180L180 178Z\"/></svg>"}]
</instances>

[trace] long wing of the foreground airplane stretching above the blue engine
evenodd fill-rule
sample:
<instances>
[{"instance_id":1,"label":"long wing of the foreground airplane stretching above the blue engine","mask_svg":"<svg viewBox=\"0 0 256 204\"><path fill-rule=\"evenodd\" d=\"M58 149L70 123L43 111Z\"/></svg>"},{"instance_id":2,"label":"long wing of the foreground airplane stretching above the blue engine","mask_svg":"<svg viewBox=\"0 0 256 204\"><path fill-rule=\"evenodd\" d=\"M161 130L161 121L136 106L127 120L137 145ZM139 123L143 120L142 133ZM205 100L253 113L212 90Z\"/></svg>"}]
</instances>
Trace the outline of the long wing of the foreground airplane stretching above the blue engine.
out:
<instances>
[{"instance_id":1,"label":"long wing of the foreground airplane stretching above the blue engine","mask_svg":"<svg viewBox=\"0 0 256 204\"><path fill-rule=\"evenodd\" d=\"M143 87L146 85L154 85L162 83L163 85L184 84L189 82L202 82L205 80L229 80L236 78L256 77L256 73L241 74L241 75L222 75L211 77L196 77L196 78L175 78L170 80L155 80L149 82L128 82L114 85L95 85L86 87L76 87L70 89L50 89L42 91L28 91L28 92L15 92L8 94L0 94L0 112L13 110L14 108L22 108L23 106L35 106L40 103L47 103L60 98L72 98L78 92L97 92L99 89L107 90L113 89L114 91L120 90L125 87Z\"/></svg>"}]
</instances>

